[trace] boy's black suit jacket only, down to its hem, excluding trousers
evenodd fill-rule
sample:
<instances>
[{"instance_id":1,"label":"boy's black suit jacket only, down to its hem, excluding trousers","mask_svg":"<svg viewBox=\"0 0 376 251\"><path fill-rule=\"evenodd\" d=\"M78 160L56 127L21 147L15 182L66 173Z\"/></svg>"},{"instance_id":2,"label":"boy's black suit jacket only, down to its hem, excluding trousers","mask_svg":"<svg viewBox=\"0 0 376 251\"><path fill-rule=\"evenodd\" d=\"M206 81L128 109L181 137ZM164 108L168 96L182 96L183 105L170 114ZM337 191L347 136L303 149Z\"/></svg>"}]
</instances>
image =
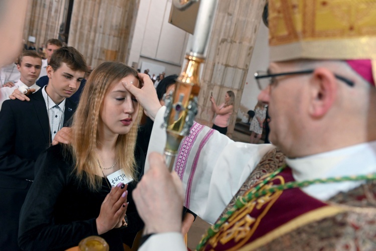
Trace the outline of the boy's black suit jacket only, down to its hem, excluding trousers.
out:
<instances>
[{"instance_id":1,"label":"boy's black suit jacket only, down to its hem, excluding trousers","mask_svg":"<svg viewBox=\"0 0 376 251\"><path fill-rule=\"evenodd\" d=\"M34 180L34 164L50 144L49 119L42 88L30 101L6 100L0 111L0 179L14 182ZM64 126L76 110L65 102ZM20 183L18 183L20 185Z\"/></svg>"}]
</instances>

